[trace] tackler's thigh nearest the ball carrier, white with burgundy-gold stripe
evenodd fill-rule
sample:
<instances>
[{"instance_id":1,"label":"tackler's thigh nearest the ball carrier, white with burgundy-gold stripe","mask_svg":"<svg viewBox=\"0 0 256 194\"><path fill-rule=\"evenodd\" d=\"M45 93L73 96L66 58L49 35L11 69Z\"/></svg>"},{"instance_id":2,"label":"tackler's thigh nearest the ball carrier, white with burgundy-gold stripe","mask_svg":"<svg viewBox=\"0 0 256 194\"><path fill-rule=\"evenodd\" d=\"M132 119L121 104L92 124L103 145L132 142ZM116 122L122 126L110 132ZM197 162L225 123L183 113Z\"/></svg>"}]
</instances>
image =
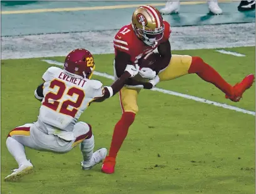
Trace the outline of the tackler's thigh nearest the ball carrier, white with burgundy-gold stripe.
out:
<instances>
[{"instance_id":1,"label":"tackler's thigh nearest the ball carrier, white with burgundy-gold stripe","mask_svg":"<svg viewBox=\"0 0 256 194\"><path fill-rule=\"evenodd\" d=\"M91 138L93 135L91 125L85 122L77 122L74 125L73 133L76 139L71 143L71 148L76 147L76 145L83 142L84 139Z\"/></svg>"}]
</instances>

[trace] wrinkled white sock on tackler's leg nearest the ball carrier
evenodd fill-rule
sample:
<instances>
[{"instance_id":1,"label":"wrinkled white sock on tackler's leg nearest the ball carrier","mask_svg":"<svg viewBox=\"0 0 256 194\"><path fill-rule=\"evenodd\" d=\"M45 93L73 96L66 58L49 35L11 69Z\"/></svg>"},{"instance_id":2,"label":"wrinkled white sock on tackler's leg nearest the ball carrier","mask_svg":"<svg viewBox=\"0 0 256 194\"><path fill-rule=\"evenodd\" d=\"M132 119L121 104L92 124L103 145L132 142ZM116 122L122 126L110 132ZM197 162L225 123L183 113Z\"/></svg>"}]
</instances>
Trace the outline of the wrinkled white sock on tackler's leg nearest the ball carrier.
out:
<instances>
[{"instance_id":1,"label":"wrinkled white sock on tackler's leg nearest the ball carrier","mask_svg":"<svg viewBox=\"0 0 256 194\"><path fill-rule=\"evenodd\" d=\"M91 135L91 138L83 140L80 143L80 150L83 154L83 163L89 164L93 158L93 148L95 147L95 137Z\"/></svg>"}]
</instances>

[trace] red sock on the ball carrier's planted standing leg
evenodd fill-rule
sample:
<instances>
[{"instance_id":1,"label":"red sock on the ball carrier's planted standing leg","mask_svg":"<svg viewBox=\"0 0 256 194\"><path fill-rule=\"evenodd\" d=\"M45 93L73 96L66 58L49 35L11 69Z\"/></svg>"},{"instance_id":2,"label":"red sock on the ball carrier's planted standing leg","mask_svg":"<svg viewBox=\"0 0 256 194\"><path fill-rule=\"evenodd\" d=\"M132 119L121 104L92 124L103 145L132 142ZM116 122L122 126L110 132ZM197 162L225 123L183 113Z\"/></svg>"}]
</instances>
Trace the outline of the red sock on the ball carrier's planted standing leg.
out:
<instances>
[{"instance_id":1,"label":"red sock on the ball carrier's planted standing leg","mask_svg":"<svg viewBox=\"0 0 256 194\"><path fill-rule=\"evenodd\" d=\"M135 114L133 112L124 112L121 116L121 119L115 126L115 130L113 133L111 146L110 146L110 153L109 156L116 158L120 147L125 140L125 137L128 133L128 129L133 121L135 120Z\"/></svg>"}]
</instances>

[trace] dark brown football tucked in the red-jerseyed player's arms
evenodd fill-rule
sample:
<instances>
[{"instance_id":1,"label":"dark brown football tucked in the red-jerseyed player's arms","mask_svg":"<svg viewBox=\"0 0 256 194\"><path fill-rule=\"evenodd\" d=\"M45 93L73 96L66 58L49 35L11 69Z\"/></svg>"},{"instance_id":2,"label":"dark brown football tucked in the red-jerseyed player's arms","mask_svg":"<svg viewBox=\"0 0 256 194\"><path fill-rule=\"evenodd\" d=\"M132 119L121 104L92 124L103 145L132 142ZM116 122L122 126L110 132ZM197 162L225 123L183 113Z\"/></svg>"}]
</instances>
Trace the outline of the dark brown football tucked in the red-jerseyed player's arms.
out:
<instances>
[{"instance_id":1,"label":"dark brown football tucked in the red-jerseyed player's arms","mask_svg":"<svg viewBox=\"0 0 256 194\"><path fill-rule=\"evenodd\" d=\"M155 52L150 52L146 54L145 56L141 57L141 59L138 61L138 65L140 66L140 69L142 67L148 67L152 70L155 70L156 68L156 61L160 59L160 54Z\"/></svg>"}]
</instances>

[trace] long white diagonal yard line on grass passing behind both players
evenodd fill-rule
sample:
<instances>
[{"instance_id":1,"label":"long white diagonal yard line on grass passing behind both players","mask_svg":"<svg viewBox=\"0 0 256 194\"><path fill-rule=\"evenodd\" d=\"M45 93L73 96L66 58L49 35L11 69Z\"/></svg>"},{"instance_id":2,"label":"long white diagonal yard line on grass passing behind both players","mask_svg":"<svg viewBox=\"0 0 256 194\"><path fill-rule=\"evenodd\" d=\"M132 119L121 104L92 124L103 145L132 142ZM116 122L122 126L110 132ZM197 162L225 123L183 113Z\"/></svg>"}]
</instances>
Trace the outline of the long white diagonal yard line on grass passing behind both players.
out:
<instances>
[{"instance_id":1,"label":"long white diagonal yard line on grass passing behind both players","mask_svg":"<svg viewBox=\"0 0 256 194\"><path fill-rule=\"evenodd\" d=\"M47 62L48 64L63 66L63 63L58 62L58 61L53 61L53 60L42 60L42 61ZM101 72L97 72L97 71L94 71L93 74L98 75L100 77L105 77L107 79L114 80L113 75L109 75L109 74L101 73ZM195 97L193 95L173 92L171 90L160 89L158 87L156 87L155 89L152 89L152 90L157 91L157 92L161 92L161 93L164 93L164 94L175 95L175 96L178 96L178 97L183 97L184 99L195 100L197 102L202 102L202 103L205 103L205 104L211 104L211 105L215 105L216 107L222 107L224 109L235 110L237 112L242 112L244 114L249 114L249 115L254 115L255 116L255 112L253 112L253 111L240 109L238 107L233 107L232 105L222 104L222 103L215 102L215 101L212 101L212 100L202 99L202 98L199 98L199 97Z\"/></svg>"}]
</instances>

